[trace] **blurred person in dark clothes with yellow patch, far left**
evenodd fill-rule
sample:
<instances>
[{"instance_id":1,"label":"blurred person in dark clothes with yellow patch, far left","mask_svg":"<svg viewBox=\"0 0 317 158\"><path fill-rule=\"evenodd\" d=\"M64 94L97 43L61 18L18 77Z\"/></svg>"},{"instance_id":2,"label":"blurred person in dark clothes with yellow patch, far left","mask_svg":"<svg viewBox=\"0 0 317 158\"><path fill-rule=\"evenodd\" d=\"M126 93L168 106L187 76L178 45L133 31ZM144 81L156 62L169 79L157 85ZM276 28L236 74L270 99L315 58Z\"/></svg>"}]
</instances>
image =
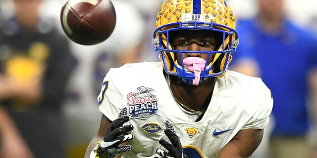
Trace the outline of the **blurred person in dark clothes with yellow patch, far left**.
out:
<instances>
[{"instance_id":1,"label":"blurred person in dark clothes with yellow patch, far left","mask_svg":"<svg viewBox=\"0 0 317 158\"><path fill-rule=\"evenodd\" d=\"M65 158L61 105L72 69L68 40L53 18L39 12L45 0L0 2L13 6L12 14L1 13L8 14L0 27L0 102L35 158Z\"/></svg>"}]
</instances>

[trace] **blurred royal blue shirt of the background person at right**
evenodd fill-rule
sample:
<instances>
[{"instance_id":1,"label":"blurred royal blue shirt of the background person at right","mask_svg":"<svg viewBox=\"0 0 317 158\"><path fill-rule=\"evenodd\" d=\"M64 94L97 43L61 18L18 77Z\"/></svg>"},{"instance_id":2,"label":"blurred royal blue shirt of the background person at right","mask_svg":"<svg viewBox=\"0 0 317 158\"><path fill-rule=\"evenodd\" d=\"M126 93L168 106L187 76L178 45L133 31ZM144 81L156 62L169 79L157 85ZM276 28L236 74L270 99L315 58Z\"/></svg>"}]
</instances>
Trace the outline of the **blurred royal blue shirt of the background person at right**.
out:
<instances>
[{"instance_id":1,"label":"blurred royal blue shirt of the background person at right","mask_svg":"<svg viewBox=\"0 0 317 158\"><path fill-rule=\"evenodd\" d=\"M309 130L307 74L317 67L317 39L313 33L284 19L279 34L268 35L256 20L238 20L239 47L233 62L252 58L274 96L272 136L303 136Z\"/></svg>"}]
</instances>

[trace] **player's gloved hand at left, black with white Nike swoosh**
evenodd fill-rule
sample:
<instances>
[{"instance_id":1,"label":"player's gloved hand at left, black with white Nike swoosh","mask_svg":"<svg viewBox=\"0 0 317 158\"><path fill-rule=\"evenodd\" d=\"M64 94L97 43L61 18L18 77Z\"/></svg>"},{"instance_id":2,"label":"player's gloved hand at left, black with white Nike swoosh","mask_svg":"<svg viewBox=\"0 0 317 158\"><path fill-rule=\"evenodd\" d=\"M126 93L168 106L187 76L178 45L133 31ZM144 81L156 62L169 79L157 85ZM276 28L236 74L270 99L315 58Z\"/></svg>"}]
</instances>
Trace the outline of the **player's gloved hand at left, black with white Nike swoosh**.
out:
<instances>
[{"instance_id":1,"label":"player's gloved hand at left, black with white Nike swoosh","mask_svg":"<svg viewBox=\"0 0 317 158\"><path fill-rule=\"evenodd\" d=\"M121 143L133 139L132 133L126 134L126 132L133 130L133 126L131 124L123 125L128 120L128 116L113 120L104 139L101 140L97 153L104 154L107 158L114 158L120 153L131 150L130 145L119 146Z\"/></svg>"}]
</instances>

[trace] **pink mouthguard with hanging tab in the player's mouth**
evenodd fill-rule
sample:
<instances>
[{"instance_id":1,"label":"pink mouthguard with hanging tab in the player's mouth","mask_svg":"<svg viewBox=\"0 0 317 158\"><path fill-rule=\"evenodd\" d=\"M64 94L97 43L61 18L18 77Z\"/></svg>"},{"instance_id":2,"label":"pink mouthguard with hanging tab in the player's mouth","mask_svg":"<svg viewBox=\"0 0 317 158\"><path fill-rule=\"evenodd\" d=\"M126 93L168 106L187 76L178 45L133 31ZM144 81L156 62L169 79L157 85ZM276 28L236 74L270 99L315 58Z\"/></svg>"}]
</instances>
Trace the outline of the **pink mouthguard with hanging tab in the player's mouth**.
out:
<instances>
[{"instance_id":1,"label":"pink mouthguard with hanging tab in the player's mouth","mask_svg":"<svg viewBox=\"0 0 317 158\"><path fill-rule=\"evenodd\" d=\"M195 74L193 85L198 85L200 81L200 73L204 71L206 60L199 57L187 57L183 60L184 68Z\"/></svg>"}]
</instances>

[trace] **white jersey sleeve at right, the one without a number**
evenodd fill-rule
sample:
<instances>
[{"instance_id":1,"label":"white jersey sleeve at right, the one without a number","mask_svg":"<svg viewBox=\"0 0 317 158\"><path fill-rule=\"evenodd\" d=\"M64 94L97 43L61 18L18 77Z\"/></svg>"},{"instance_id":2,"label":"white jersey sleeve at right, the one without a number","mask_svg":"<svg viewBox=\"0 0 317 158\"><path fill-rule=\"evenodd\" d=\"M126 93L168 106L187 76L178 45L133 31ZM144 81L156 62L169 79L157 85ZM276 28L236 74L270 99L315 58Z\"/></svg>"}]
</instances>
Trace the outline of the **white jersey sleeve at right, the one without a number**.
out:
<instances>
[{"instance_id":1,"label":"white jersey sleeve at right, the one without a number","mask_svg":"<svg viewBox=\"0 0 317 158\"><path fill-rule=\"evenodd\" d=\"M246 122L242 129L264 129L270 119L273 108L273 98L270 89L262 82L253 86L253 102L246 107L246 111L251 118Z\"/></svg>"}]
</instances>

